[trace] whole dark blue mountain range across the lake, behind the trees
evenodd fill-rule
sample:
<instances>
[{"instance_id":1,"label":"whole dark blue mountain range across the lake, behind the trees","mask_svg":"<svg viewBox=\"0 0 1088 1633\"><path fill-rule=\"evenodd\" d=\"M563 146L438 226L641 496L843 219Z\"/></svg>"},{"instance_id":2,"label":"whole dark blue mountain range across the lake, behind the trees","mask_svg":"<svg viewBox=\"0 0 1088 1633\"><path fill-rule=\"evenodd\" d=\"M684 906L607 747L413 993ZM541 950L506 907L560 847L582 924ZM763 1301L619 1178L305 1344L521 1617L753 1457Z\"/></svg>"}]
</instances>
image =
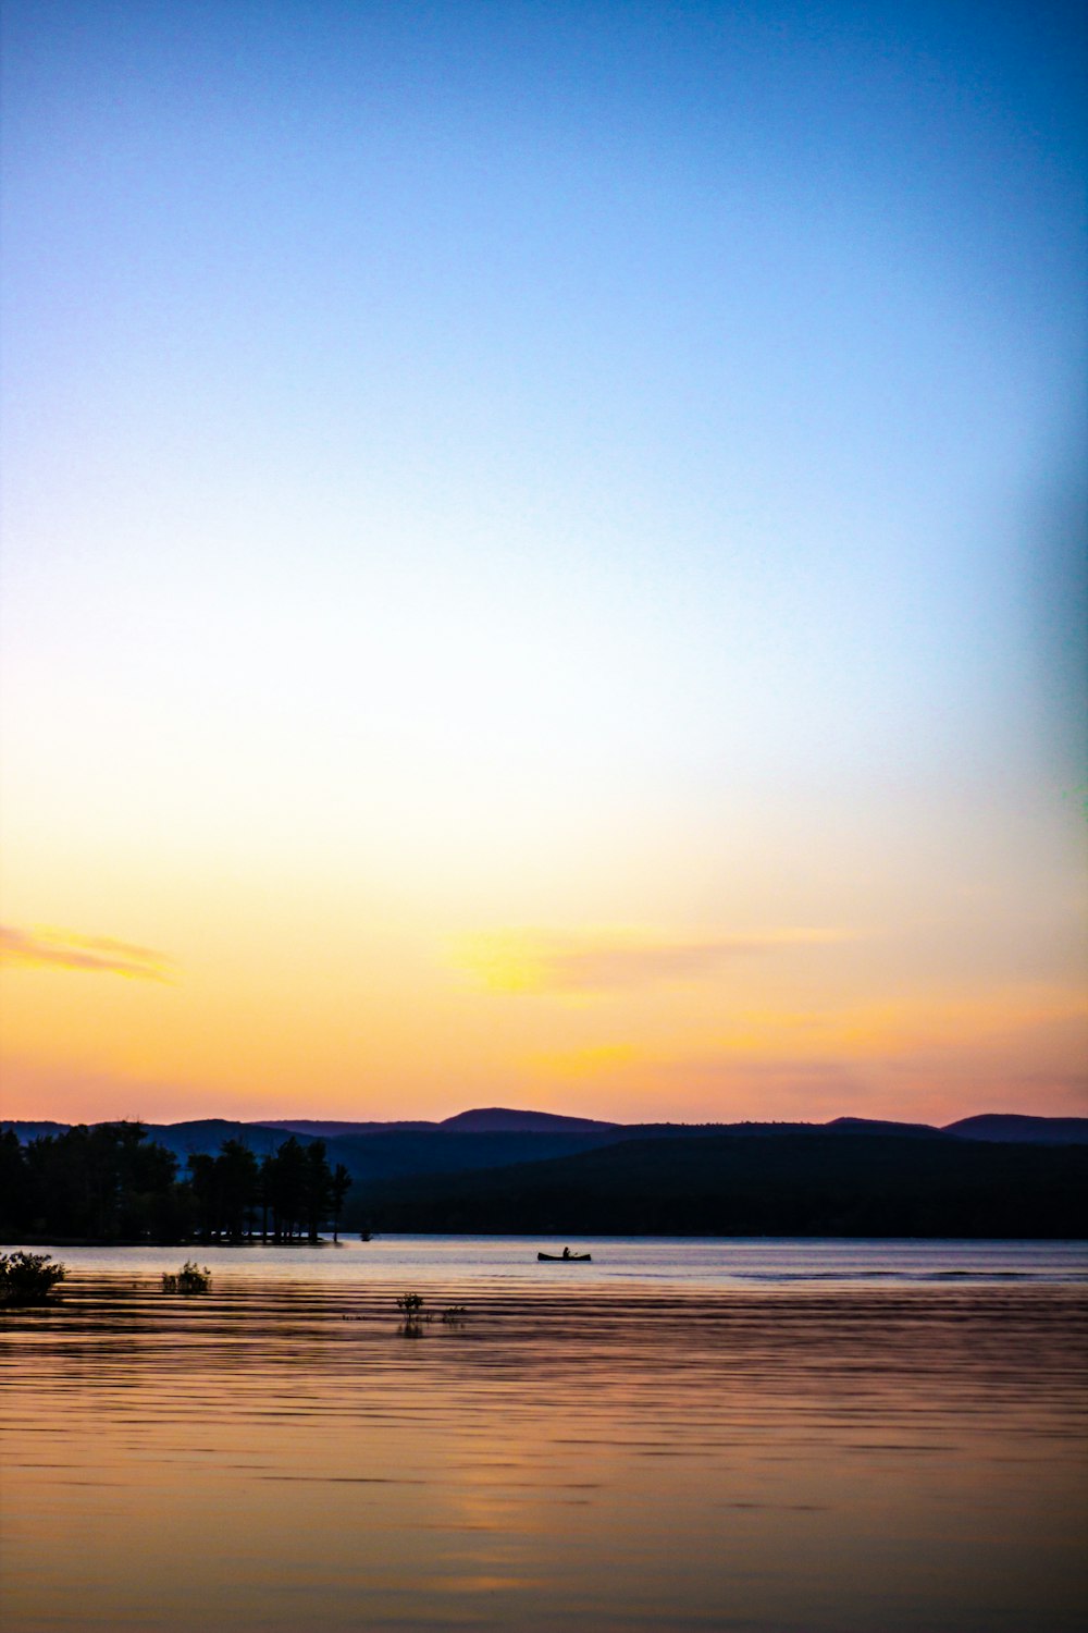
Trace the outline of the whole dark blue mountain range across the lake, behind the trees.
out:
<instances>
[{"instance_id":1,"label":"whole dark blue mountain range across the lake, behind the trees","mask_svg":"<svg viewBox=\"0 0 1088 1633\"><path fill-rule=\"evenodd\" d=\"M70 1125L5 1122L21 1143ZM258 1158L325 1140L343 1223L522 1235L1072 1236L1088 1233L1088 1119L985 1114L948 1128L607 1124L480 1107L440 1124L145 1124L184 1174L238 1140ZM338 1130L333 1133L333 1130Z\"/></svg>"}]
</instances>

